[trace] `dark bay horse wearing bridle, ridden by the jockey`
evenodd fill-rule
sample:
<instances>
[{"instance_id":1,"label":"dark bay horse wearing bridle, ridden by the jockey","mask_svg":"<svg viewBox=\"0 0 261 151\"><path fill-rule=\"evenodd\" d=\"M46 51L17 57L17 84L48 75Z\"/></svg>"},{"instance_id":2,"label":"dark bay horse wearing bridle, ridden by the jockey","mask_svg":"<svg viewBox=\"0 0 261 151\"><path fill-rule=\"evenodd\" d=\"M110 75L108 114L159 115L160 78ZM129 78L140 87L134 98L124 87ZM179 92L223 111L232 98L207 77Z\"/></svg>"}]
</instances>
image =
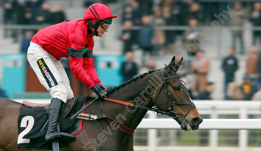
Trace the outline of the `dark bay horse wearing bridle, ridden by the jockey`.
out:
<instances>
[{"instance_id":1,"label":"dark bay horse wearing bridle, ridden by the jockey","mask_svg":"<svg viewBox=\"0 0 261 151\"><path fill-rule=\"evenodd\" d=\"M180 62L175 56L162 69L149 71L113 88L108 98L151 108L175 119L183 130L196 130L202 122L185 83L177 75ZM95 113L97 106L103 106L107 117L119 121L123 128L107 118L94 121L83 120L82 130L76 140L61 147L62 151L133 151L133 132L148 110L130 107L109 101L94 101L84 113ZM0 98L0 151L38 151L47 149L17 147L17 118L23 104Z\"/></svg>"}]
</instances>

